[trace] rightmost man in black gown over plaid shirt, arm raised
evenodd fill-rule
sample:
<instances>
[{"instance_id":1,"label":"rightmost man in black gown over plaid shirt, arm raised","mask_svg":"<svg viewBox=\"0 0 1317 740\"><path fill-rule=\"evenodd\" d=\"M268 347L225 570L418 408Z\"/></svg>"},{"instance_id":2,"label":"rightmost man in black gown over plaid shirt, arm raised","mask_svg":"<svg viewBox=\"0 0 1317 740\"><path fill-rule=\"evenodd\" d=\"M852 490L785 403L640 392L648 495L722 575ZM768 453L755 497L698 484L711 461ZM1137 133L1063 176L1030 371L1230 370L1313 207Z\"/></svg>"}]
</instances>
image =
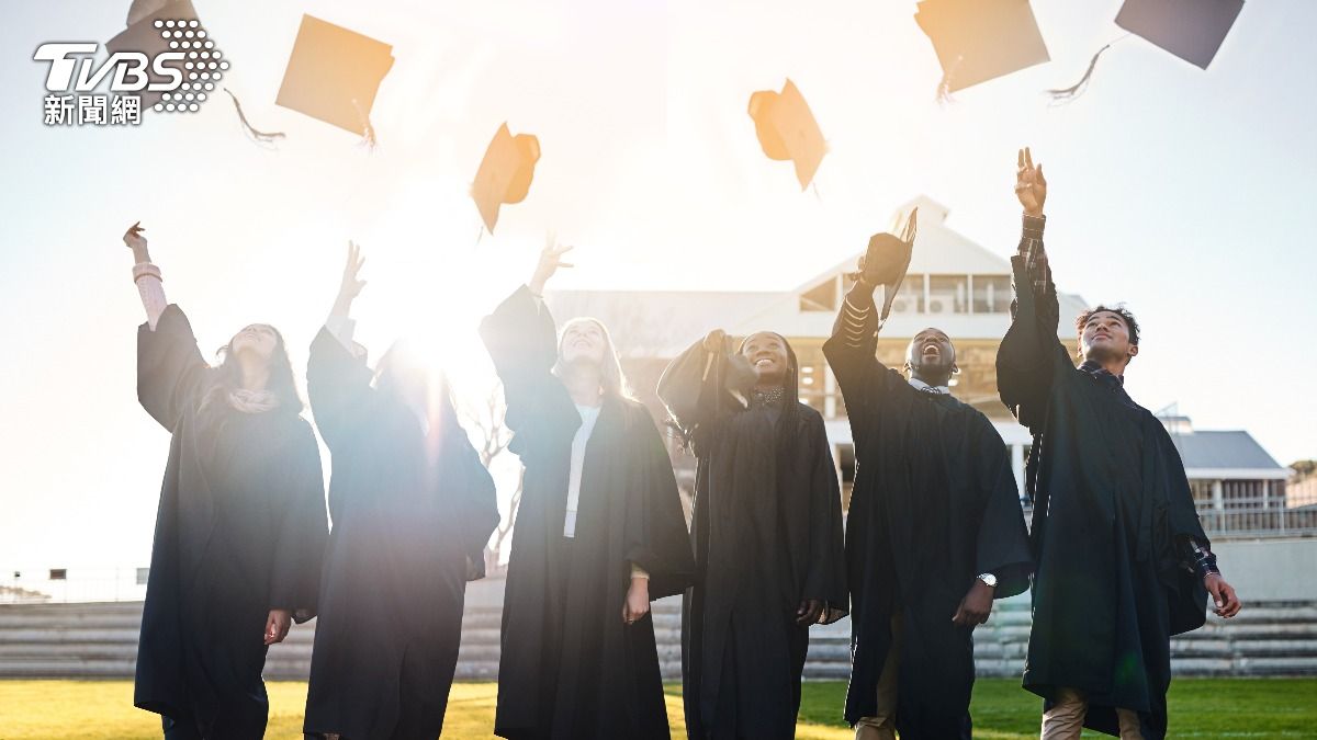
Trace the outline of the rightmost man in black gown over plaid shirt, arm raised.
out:
<instances>
[{"instance_id":1,"label":"rightmost man in black gown over plaid shirt, arm raised","mask_svg":"<svg viewBox=\"0 0 1317 740\"><path fill-rule=\"evenodd\" d=\"M1084 312L1079 367L1056 338L1047 182L1027 150L1015 194L1025 226L997 383L1034 435L1026 477L1038 570L1025 687L1044 699L1043 737L1079 737L1081 726L1166 737L1171 636L1202 625L1209 593L1225 618L1239 599L1217 569L1169 435L1125 392L1139 349L1134 316Z\"/></svg>"}]
</instances>

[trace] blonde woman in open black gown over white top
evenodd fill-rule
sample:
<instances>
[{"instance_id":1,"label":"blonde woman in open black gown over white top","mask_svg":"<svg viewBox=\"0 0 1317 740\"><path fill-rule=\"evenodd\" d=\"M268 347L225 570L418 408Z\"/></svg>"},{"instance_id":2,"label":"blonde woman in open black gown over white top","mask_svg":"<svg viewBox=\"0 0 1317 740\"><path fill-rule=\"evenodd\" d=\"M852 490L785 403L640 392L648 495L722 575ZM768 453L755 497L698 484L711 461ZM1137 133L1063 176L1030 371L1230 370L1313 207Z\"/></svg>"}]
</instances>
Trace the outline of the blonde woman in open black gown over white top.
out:
<instances>
[{"instance_id":1,"label":"blonde woman in open black gown over white top","mask_svg":"<svg viewBox=\"0 0 1317 740\"><path fill-rule=\"evenodd\" d=\"M503 381L510 449L525 466L503 595L495 733L669 737L649 600L680 594L694 561L672 462L627 395L593 319L557 337L540 295L570 248L481 324Z\"/></svg>"}]
</instances>

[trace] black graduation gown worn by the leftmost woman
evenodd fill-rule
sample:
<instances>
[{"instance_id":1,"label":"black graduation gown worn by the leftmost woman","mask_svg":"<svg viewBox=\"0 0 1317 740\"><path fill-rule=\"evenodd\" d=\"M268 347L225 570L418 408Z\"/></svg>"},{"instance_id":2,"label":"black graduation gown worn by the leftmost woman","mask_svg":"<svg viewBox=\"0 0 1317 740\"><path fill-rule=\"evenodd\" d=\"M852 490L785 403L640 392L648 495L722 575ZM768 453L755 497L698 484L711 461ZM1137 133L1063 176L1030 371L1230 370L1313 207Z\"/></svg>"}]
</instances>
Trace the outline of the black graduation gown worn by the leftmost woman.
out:
<instances>
[{"instance_id":1,"label":"black graduation gown worn by the leftmost woman","mask_svg":"<svg viewBox=\"0 0 1317 740\"><path fill-rule=\"evenodd\" d=\"M203 737L265 733L271 610L315 616L327 521L320 449L291 410L244 413L178 305L137 330L137 398L173 433L133 703Z\"/></svg>"}]
</instances>

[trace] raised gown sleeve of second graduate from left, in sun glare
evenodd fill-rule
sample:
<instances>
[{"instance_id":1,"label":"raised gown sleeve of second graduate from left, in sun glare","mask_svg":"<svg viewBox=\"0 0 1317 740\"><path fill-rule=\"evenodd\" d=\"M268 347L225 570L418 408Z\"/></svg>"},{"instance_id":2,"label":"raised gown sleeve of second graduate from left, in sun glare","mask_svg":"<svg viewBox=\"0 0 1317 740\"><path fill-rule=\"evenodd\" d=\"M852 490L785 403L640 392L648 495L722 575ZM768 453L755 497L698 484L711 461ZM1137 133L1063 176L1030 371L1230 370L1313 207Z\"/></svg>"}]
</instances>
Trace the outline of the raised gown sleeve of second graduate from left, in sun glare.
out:
<instances>
[{"instance_id":1,"label":"raised gown sleeve of second graduate from left, in sun glare","mask_svg":"<svg viewBox=\"0 0 1317 740\"><path fill-rule=\"evenodd\" d=\"M307 396L316 428L331 450L363 421L374 388L365 357L356 357L327 328L311 342Z\"/></svg>"}]
</instances>

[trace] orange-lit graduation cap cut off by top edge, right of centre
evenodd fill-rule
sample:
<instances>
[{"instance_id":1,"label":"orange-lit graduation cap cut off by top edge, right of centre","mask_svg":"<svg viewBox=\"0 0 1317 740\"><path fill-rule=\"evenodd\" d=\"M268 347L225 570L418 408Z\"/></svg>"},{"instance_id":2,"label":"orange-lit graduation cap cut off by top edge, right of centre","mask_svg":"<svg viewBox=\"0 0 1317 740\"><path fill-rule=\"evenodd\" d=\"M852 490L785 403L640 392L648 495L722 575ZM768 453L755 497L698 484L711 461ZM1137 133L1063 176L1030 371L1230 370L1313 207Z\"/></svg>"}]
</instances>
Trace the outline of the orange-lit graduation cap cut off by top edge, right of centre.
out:
<instances>
[{"instance_id":1,"label":"orange-lit graduation cap cut off by top edge, right of centre","mask_svg":"<svg viewBox=\"0 0 1317 740\"><path fill-rule=\"evenodd\" d=\"M939 97L1050 59L1029 0L922 0L914 20L942 65Z\"/></svg>"}]
</instances>

